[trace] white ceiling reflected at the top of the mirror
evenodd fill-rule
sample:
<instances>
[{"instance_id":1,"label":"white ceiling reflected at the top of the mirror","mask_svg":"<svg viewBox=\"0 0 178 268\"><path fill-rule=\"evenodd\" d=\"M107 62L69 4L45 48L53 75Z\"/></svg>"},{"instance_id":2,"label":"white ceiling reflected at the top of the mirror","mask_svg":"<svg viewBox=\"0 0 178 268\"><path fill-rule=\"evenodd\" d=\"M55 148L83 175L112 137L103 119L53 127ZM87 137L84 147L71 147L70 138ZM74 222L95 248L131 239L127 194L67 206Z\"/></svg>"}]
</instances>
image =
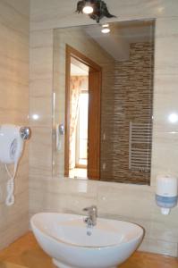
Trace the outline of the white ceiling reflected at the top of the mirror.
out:
<instances>
[{"instance_id":1,"label":"white ceiling reflected at the top of the mirror","mask_svg":"<svg viewBox=\"0 0 178 268\"><path fill-rule=\"evenodd\" d=\"M101 25L87 26L84 29L116 61L129 59L131 43L147 42L154 36L153 21L122 21L109 25L111 31L108 34L101 32Z\"/></svg>"}]
</instances>

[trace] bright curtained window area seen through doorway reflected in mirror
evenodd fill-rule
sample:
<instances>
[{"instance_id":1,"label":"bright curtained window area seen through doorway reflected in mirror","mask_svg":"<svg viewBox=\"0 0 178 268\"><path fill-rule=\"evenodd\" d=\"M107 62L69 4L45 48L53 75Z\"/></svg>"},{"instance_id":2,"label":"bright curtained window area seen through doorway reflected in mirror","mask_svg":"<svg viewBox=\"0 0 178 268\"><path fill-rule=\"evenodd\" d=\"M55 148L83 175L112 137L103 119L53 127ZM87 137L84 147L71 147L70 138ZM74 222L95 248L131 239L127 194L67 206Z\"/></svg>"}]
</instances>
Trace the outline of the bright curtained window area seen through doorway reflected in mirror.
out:
<instances>
[{"instance_id":1,"label":"bright curtained window area seen through doorway reflected in mirror","mask_svg":"<svg viewBox=\"0 0 178 268\"><path fill-rule=\"evenodd\" d=\"M87 178L89 69L71 58L69 177Z\"/></svg>"}]
</instances>

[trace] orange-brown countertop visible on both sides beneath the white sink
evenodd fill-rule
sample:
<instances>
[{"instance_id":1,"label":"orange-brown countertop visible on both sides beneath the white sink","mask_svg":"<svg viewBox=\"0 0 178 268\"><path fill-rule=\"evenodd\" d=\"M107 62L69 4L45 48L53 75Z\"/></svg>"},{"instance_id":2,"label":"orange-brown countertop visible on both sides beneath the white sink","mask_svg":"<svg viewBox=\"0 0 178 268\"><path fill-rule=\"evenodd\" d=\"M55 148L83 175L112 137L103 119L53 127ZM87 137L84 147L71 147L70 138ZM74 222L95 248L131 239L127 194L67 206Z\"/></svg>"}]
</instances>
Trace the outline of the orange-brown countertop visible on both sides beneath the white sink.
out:
<instances>
[{"instance_id":1,"label":"orange-brown countertop visible on both sides beneath the white sink","mask_svg":"<svg viewBox=\"0 0 178 268\"><path fill-rule=\"evenodd\" d=\"M0 252L0 268L55 268L31 232ZM119 268L178 268L178 259L136 252Z\"/></svg>"}]
</instances>

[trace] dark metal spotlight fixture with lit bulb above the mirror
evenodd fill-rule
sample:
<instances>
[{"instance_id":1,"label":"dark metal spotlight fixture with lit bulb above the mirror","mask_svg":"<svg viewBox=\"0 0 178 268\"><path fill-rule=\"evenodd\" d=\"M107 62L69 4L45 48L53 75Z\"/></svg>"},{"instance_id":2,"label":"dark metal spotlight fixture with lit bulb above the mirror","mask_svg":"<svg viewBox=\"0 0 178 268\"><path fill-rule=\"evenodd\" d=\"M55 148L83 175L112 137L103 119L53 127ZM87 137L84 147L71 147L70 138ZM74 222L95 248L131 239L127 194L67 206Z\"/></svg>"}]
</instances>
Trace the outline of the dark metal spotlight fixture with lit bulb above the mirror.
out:
<instances>
[{"instance_id":1,"label":"dark metal spotlight fixture with lit bulb above the mirror","mask_svg":"<svg viewBox=\"0 0 178 268\"><path fill-rule=\"evenodd\" d=\"M102 0L82 0L77 3L77 13L89 14L92 20L99 21L106 18L114 18L115 16L108 12L106 3Z\"/></svg>"}]
</instances>

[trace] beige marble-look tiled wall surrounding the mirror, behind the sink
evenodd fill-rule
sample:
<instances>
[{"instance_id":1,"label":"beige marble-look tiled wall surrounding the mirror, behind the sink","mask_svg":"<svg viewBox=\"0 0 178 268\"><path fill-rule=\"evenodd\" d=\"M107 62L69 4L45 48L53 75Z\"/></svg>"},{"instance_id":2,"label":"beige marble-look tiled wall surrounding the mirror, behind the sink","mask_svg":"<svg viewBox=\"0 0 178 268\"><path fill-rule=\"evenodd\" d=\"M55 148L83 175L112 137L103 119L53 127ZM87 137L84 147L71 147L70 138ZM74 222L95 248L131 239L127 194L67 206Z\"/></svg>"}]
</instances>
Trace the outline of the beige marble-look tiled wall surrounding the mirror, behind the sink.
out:
<instances>
[{"instance_id":1,"label":"beige marble-look tiled wall surrounding the mirror, behind the sink","mask_svg":"<svg viewBox=\"0 0 178 268\"><path fill-rule=\"evenodd\" d=\"M30 214L45 210L81 214L85 205L97 204L100 215L144 226L146 237L141 249L177 256L178 208L167 217L160 214L154 201L154 185L158 173L178 175L178 122L168 121L170 113L178 113L178 2L109 0L106 3L117 21L157 19L152 186L52 178L53 29L93 21L74 13L73 0L31 0ZM33 120L33 114L39 115L38 120Z\"/></svg>"}]
</instances>

